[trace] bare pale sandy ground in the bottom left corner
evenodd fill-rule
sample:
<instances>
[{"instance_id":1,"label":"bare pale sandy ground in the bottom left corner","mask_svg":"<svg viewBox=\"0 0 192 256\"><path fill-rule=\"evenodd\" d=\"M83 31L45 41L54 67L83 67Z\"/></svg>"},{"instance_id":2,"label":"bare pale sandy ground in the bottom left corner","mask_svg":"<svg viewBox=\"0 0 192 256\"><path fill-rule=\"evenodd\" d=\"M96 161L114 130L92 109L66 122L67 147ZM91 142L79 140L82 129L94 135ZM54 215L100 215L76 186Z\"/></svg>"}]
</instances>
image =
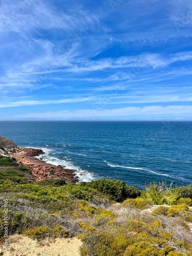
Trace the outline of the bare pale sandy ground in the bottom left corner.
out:
<instances>
[{"instance_id":1,"label":"bare pale sandy ground in the bottom left corner","mask_svg":"<svg viewBox=\"0 0 192 256\"><path fill-rule=\"evenodd\" d=\"M0 255L3 256L79 256L82 242L77 238L57 238L43 240L37 243L28 237L18 234L9 237L9 252L0 246Z\"/></svg>"}]
</instances>

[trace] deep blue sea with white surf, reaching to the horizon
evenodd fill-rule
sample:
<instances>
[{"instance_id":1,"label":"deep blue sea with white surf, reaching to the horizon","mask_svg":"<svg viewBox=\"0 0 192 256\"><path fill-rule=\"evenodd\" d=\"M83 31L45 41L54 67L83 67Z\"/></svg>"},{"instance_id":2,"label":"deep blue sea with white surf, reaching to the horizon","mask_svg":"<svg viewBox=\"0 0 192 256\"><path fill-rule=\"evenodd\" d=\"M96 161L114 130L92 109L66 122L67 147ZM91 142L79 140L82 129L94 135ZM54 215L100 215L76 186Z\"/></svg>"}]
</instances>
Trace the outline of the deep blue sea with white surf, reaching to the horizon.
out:
<instances>
[{"instance_id":1,"label":"deep blue sea with white surf, reaching to the horizon","mask_svg":"<svg viewBox=\"0 0 192 256\"><path fill-rule=\"evenodd\" d=\"M192 122L1 121L0 136L44 148L46 161L75 168L84 181L192 182Z\"/></svg>"}]
</instances>

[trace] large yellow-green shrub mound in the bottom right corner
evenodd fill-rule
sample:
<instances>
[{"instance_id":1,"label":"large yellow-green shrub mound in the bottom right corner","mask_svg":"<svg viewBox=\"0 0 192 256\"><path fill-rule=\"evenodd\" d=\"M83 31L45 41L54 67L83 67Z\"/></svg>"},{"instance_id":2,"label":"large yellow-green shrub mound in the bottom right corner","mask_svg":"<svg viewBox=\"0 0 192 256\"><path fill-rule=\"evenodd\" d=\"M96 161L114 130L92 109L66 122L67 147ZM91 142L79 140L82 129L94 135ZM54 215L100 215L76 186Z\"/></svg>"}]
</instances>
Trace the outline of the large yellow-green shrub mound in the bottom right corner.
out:
<instances>
[{"instance_id":1,"label":"large yellow-green shrub mound in the bottom right corner","mask_svg":"<svg viewBox=\"0 0 192 256\"><path fill-rule=\"evenodd\" d=\"M105 226L106 227L106 226ZM81 256L167 256L185 255L188 244L174 240L172 232L164 231L165 225L159 221L152 221L148 217L131 219L126 224L94 230L90 236L86 236L84 244L80 248ZM187 254L189 255L189 254Z\"/></svg>"}]
</instances>

